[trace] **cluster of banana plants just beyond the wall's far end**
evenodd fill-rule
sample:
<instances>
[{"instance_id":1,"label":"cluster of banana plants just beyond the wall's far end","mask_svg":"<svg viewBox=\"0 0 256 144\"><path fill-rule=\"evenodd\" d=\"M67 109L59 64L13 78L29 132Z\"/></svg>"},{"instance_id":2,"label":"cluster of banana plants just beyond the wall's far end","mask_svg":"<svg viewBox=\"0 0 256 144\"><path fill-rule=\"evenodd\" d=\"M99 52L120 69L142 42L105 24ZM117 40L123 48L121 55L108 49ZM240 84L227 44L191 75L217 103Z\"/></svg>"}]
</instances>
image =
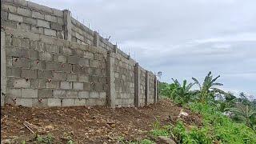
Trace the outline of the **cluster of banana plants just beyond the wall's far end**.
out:
<instances>
[{"instance_id":1,"label":"cluster of banana plants just beyond the wall's far end","mask_svg":"<svg viewBox=\"0 0 256 144\"><path fill-rule=\"evenodd\" d=\"M206 78L202 82L198 82L197 78L192 78L194 81L193 83L187 84L186 80L183 80L182 85L178 82L177 79L173 79L174 81L171 84L161 84L161 94L165 96L166 98L171 98L175 102L178 103L188 103L188 102L212 102L214 101L214 98L216 97L216 94L226 94L223 90L218 89L215 86L222 86L222 83L216 82L216 80L220 76L213 78L213 75L211 72L209 72L206 75ZM187 85L186 85L187 84ZM191 90L191 88L197 85L198 90ZM183 102L182 100L186 100L186 102Z\"/></svg>"}]
</instances>

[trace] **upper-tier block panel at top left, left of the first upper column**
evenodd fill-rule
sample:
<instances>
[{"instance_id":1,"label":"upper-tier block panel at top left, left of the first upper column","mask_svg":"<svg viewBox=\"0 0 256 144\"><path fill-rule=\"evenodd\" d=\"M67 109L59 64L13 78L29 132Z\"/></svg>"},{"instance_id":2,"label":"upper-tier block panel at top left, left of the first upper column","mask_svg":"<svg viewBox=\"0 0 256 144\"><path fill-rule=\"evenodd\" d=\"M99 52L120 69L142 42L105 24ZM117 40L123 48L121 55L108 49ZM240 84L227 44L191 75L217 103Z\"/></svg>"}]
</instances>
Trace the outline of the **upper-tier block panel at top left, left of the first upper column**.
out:
<instances>
[{"instance_id":1,"label":"upper-tier block panel at top left, left of the first upper column","mask_svg":"<svg viewBox=\"0 0 256 144\"><path fill-rule=\"evenodd\" d=\"M63 11L34 2L2 0L1 26L64 38Z\"/></svg>"}]
</instances>

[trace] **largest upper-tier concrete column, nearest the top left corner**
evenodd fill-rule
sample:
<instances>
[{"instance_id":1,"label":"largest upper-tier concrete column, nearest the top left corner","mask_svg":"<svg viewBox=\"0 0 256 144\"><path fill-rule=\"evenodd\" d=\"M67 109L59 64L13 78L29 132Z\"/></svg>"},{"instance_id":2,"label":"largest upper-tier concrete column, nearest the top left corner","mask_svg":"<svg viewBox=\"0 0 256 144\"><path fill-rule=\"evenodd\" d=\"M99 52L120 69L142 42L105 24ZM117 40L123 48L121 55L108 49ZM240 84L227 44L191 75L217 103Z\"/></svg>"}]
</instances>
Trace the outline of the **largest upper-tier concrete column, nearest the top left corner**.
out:
<instances>
[{"instance_id":1,"label":"largest upper-tier concrete column, nearest the top left corner","mask_svg":"<svg viewBox=\"0 0 256 144\"><path fill-rule=\"evenodd\" d=\"M71 41L71 34L72 34L72 30L71 30L71 14L70 14L70 10L63 10L64 13L64 39Z\"/></svg>"}]
</instances>

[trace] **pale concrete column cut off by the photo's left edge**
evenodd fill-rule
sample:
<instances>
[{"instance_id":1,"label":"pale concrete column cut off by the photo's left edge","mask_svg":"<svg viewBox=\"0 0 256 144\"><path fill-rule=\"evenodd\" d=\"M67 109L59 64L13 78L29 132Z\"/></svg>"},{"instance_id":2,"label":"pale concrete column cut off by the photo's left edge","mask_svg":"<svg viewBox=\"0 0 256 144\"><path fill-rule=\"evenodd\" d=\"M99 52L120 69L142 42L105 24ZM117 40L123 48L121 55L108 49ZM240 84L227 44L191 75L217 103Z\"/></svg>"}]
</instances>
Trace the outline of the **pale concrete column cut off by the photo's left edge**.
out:
<instances>
[{"instance_id":1,"label":"pale concrete column cut off by the photo's left edge","mask_svg":"<svg viewBox=\"0 0 256 144\"><path fill-rule=\"evenodd\" d=\"M1 30L1 106L4 106L6 96L6 34Z\"/></svg>"}]
</instances>

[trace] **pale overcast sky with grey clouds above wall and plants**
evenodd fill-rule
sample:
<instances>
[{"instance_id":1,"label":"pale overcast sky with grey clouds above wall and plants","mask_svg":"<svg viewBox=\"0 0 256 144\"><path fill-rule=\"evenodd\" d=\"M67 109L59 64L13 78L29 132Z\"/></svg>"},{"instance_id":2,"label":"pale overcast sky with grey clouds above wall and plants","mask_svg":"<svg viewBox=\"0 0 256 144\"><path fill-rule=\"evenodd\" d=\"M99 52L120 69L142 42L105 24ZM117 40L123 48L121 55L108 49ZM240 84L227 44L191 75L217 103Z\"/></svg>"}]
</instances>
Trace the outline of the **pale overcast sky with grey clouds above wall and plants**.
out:
<instances>
[{"instance_id":1,"label":"pale overcast sky with grey clouds above wall and plants","mask_svg":"<svg viewBox=\"0 0 256 144\"><path fill-rule=\"evenodd\" d=\"M256 95L255 0L32 0L69 9L161 81L208 71L222 89Z\"/></svg>"}]
</instances>

